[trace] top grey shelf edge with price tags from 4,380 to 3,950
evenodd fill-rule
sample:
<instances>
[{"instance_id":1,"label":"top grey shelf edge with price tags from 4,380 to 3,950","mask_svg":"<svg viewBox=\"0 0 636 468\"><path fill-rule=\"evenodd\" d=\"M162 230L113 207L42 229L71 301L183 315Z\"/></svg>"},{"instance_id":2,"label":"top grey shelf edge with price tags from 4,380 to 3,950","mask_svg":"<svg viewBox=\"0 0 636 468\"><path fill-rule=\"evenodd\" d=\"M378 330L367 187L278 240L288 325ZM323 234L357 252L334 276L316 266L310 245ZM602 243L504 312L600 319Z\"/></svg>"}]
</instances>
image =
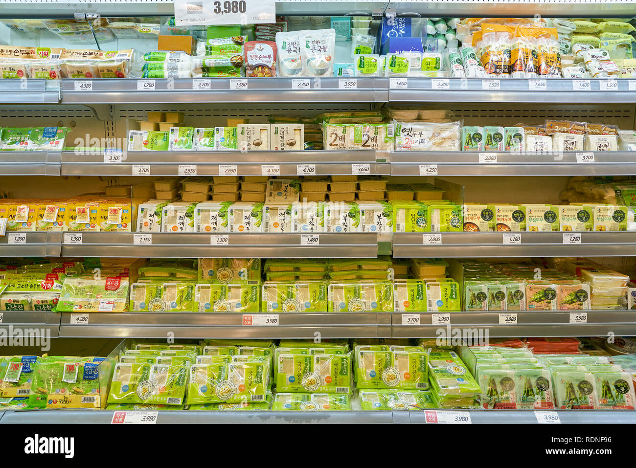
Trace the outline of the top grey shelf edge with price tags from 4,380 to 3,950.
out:
<instances>
[{"instance_id":1,"label":"top grey shelf edge with price tags from 4,380 to 3,950","mask_svg":"<svg viewBox=\"0 0 636 468\"><path fill-rule=\"evenodd\" d=\"M355 89L341 89L341 78L206 78L207 89L196 89L197 78L93 79L91 90L79 89L87 80L62 79L62 104L155 104L156 102L387 102L387 78L342 78L356 82ZM143 90L151 81L153 90ZM233 82L247 88L230 89ZM298 86L306 89L293 89ZM139 90L142 88L142 90Z\"/></svg>"}]
</instances>

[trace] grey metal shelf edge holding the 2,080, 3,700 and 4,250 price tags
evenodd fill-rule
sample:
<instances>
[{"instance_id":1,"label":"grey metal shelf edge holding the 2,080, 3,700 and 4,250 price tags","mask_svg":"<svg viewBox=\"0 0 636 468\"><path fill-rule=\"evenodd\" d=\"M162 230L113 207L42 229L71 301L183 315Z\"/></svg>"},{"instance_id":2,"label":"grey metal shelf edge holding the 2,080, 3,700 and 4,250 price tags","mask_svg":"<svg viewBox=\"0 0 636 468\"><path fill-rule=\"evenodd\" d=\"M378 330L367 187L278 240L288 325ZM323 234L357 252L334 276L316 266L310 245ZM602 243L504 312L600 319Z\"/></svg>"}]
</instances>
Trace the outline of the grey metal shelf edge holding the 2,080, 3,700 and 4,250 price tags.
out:
<instances>
[{"instance_id":1,"label":"grey metal shelf edge holding the 2,080, 3,700 and 4,250 price tags","mask_svg":"<svg viewBox=\"0 0 636 468\"><path fill-rule=\"evenodd\" d=\"M581 155L583 152L579 152ZM496 163L480 163L495 155ZM394 151L392 176L420 176L420 165L436 165L438 176L619 176L636 174L636 156L622 151L585 152L593 163L577 163L577 153L513 154L477 151ZM424 171L425 168L422 168Z\"/></svg>"}]
</instances>

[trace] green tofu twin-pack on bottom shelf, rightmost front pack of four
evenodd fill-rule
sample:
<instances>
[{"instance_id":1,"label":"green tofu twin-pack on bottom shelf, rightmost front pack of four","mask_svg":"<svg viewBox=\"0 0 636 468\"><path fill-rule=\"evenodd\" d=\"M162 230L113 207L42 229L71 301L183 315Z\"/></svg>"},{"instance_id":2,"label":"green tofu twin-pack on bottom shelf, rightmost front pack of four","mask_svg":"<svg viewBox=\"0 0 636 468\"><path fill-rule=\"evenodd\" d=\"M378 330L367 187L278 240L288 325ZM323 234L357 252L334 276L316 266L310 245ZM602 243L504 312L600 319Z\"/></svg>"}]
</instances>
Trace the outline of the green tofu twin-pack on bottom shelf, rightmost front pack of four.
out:
<instances>
[{"instance_id":1,"label":"green tofu twin-pack on bottom shelf, rightmost front pack of four","mask_svg":"<svg viewBox=\"0 0 636 468\"><path fill-rule=\"evenodd\" d=\"M359 389L429 388L428 350L418 346L358 346L354 378Z\"/></svg>"}]
</instances>

